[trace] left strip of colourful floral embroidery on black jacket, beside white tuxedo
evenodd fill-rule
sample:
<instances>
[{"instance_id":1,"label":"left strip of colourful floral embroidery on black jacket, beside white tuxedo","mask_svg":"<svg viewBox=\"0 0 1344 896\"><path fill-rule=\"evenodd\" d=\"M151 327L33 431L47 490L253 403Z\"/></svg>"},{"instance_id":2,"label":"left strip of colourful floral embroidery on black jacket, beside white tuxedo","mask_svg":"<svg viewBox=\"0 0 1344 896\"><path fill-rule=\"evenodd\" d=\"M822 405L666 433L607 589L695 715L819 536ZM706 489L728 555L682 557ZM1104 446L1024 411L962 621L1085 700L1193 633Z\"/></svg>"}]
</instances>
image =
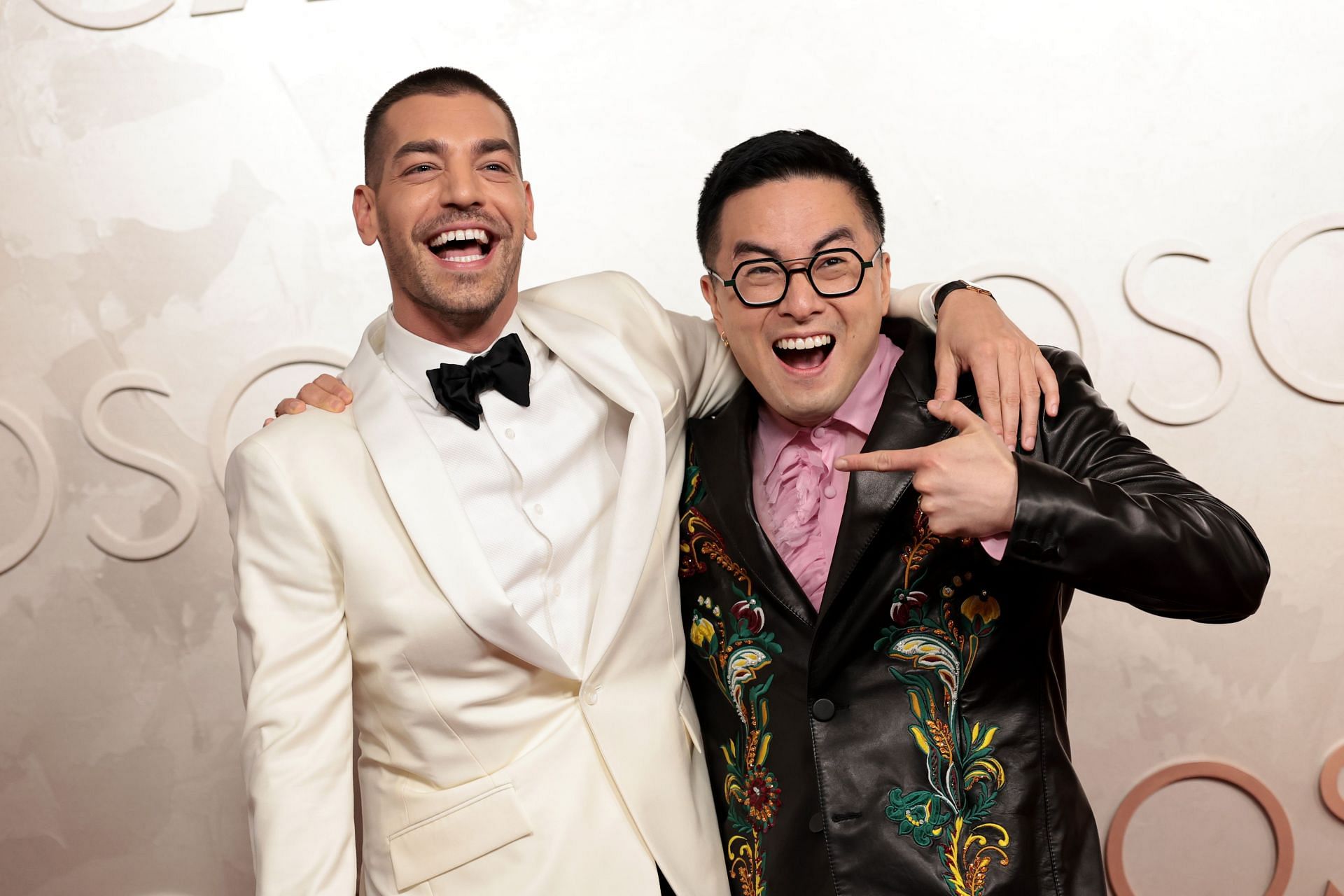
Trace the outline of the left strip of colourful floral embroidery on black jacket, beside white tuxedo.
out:
<instances>
[{"instance_id":1,"label":"left strip of colourful floral embroidery on black jacket, beside white tuxedo","mask_svg":"<svg viewBox=\"0 0 1344 896\"><path fill-rule=\"evenodd\" d=\"M723 536L706 520L698 505L704 498L700 470L694 459L685 472L687 489L681 513L683 579L708 570L712 562L732 579L737 600L723 609L711 598L696 598L687 638L703 660L723 697L739 721L737 736L720 744L727 763L723 798L732 833L727 841L728 875L742 896L766 896L765 848L762 837L774 826L780 811L780 782L766 759L770 754L770 705L767 693L774 676L763 677L781 647L774 633L765 630L766 615L754 594L750 576L734 562Z\"/></svg>"}]
</instances>

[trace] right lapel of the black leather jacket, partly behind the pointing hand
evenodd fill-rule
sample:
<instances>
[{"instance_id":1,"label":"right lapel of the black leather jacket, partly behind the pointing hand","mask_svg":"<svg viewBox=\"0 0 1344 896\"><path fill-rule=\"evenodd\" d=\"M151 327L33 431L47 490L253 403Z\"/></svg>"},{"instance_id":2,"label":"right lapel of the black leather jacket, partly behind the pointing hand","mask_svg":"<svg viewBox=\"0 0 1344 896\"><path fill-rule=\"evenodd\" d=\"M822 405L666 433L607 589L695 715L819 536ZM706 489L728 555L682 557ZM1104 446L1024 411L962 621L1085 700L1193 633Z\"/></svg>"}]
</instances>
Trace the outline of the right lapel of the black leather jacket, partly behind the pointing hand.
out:
<instances>
[{"instance_id":1,"label":"right lapel of the black leather jacket, partly behind the pointing hand","mask_svg":"<svg viewBox=\"0 0 1344 896\"><path fill-rule=\"evenodd\" d=\"M878 411L872 431L863 445L864 451L887 451L921 447L941 442L956 434L956 427L929 412L933 398L933 333L913 321L888 320L883 332L905 351L887 383L887 392ZM965 390L958 387L958 394ZM970 399L964 403L973 406ZM820 617L825 617L844 588L849 575L863 555L879 537L879 529L910 488L911 473L878 473L859 470L849 476L845 492L844 516L836 533L835 555L827 574L827 588L821 598ZM896 545L890 545L895 548Z\"/></svg>"}]
</instances>

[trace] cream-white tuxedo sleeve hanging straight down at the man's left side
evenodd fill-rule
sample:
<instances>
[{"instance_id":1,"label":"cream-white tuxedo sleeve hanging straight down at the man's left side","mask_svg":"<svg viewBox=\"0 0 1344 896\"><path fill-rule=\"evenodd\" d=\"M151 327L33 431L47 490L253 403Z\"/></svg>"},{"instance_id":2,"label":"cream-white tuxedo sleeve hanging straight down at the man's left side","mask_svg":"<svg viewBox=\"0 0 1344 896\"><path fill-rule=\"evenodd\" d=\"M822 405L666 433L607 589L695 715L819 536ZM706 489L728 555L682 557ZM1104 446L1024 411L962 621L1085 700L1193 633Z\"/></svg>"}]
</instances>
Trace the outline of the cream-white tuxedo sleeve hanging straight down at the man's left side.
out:
<instances>
[{"instance_id":1,"label":"cream-white tuxedo sleeve hanging straight down at the man's left side","mask_svg":"<svg viewBox=\"0 0 1344 896\"><path fill-rule=\"evenodd\" d=\"M257 893L353 895L351 654L340 570L265 441L224 480Z\"/></svg>"}]
</instances>

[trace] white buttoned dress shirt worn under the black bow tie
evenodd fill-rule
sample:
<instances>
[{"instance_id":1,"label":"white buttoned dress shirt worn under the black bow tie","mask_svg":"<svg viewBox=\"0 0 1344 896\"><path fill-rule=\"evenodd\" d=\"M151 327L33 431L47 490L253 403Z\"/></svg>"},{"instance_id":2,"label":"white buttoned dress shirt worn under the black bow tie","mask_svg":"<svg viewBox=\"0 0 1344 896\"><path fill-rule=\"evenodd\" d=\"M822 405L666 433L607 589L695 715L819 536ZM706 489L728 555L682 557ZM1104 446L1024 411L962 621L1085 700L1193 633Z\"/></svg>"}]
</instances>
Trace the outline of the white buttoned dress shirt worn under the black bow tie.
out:
<instances>
[{"instance_id":1,"label":"white buttoned dress shirt worn under the black bow tie","mask_svg":"<svg viewBox=\"0 0 1344 896\"><path fill-rule=\"evenodd\" d=\"M624 429L607 426L620 408L552 355L516 313L500 337L509 333L517 333L531 361L531 403L521 407L487 390L478 430L439 406L426 376L472 355L421 339L388 314L384 360L438 449L504 594L578 676L620 485L610 451L624 442L609 443Z\"/></svg>"}]
</instances>

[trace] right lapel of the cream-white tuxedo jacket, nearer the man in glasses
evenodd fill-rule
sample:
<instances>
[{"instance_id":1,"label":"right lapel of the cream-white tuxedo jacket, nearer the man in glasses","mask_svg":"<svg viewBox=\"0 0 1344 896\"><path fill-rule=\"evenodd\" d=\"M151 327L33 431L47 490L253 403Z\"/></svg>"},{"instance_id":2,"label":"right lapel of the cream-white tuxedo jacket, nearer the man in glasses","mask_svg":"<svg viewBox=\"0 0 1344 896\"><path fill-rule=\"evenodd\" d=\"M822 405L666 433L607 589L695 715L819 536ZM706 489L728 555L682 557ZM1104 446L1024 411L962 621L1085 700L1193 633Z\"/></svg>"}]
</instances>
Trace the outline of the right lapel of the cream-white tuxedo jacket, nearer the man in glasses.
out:
<instances>
[{"instance_id":1,"label":"right lapel of the cream-white tuxedo jacket, nearer the man in glasses","mask_svg":"<svg viewBox=\"0 0 1344 896\"><path fill-rule=\"evenodd\" d=\"M621 341L598 324L569 312L523 300L519 320L551 352L610 402L629 411L625 458L612 517L606 572L598 584L585 656L585 676L616 638L657 531L667 449L663 412L644 373Z\"/></svg>"}]
</instances>

